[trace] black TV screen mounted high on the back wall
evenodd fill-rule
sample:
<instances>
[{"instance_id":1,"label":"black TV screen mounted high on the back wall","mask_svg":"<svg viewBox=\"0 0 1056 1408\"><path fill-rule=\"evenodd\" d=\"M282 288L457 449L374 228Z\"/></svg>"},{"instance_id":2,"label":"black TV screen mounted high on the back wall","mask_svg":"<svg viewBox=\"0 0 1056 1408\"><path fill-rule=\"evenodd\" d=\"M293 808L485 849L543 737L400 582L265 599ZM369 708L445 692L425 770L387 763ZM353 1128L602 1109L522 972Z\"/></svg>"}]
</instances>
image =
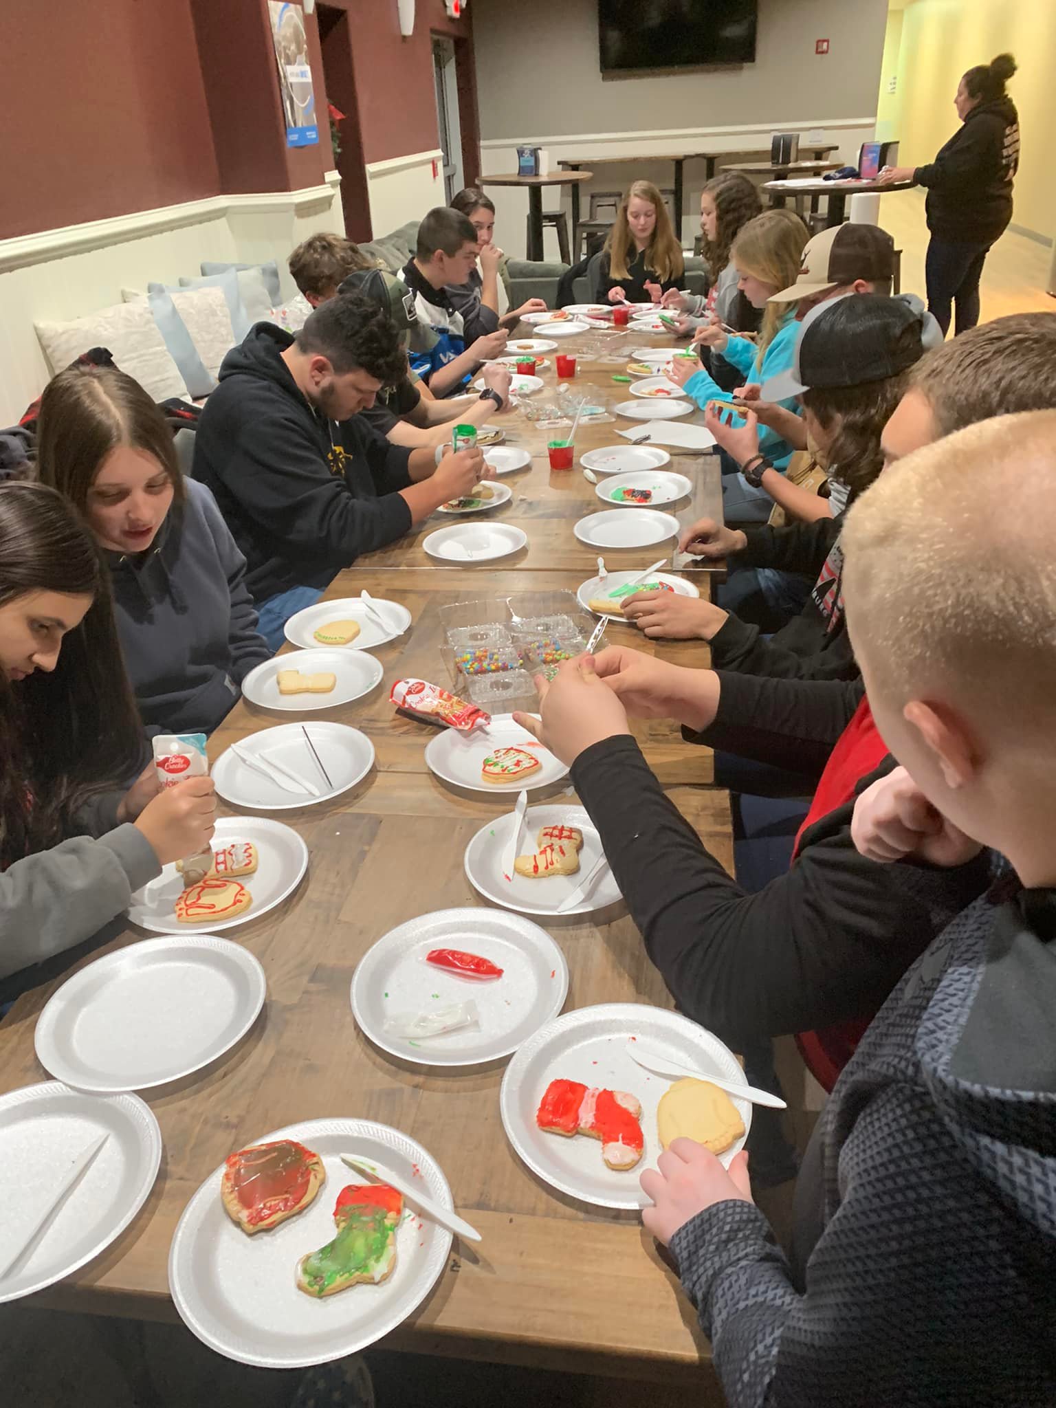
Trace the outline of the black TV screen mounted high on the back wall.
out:
<instances>
[{"instance_id":1,"label":"black TV screen mounted high on the back wall","mask_svg":"<svg viewBox=\"0 0 1056 1408\"><path fill-rule=\"evenodd\" d=\"M755 62L756 0L598 0L601 72Z\"/></svg>"}]
</instances>

